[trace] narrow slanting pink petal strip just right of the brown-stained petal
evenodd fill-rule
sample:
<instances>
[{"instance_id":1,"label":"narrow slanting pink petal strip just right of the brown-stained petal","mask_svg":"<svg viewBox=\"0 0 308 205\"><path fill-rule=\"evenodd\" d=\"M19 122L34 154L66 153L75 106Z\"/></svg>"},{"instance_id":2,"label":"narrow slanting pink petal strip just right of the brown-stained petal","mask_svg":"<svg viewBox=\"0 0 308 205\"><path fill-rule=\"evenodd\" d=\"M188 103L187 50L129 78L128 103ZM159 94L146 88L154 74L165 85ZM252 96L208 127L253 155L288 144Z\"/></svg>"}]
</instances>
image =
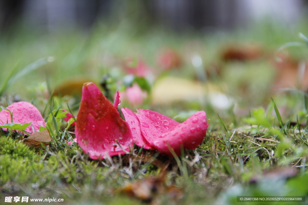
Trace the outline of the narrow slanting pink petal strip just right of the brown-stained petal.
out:
<instances>
[{"instance_id":1,"label":"narrow slanting pink petal strip just right of the brown-stained petal","mask_svg":"<svg viewBox=\"0 0 308 205\"><path fill-rule=\"evenodd\" d=\"M134 138L134 142L139 147L143 147L144 149L153 149L150 144L144 139L144 136L141 134L140 130L140 122L135 115L135 112L131 111L127 107L121 108L122 113L125 117L125 121L128 122L128 126L131 129L132 136Z\"/></svg>"}]
</instances>

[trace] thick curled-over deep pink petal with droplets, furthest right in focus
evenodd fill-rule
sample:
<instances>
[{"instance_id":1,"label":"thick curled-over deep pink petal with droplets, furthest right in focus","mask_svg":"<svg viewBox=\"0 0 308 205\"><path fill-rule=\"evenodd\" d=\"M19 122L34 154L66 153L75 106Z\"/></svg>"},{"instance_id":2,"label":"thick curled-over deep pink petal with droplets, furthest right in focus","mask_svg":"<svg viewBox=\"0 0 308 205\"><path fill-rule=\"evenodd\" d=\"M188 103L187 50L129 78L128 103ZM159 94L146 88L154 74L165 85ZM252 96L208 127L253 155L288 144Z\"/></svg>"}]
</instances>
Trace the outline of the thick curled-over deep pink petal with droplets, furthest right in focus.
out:
<instances>
[{"instance_id":1,"label":"thick curled-over deep pink petal with droplets, furthest right in focus","mask_svg":"<svg viewBox=\"0 0 308 205\"><path fill-rule=\"evenodd\" d=\"M198 111L176 126L174 130L166 132L156 139L153 146L161 153L172 156L168 149L169 143L175 153L180 155L181 146L187 149L195 149L202 143L208 126L205 112Z\"/></svg>"}]
</instances>

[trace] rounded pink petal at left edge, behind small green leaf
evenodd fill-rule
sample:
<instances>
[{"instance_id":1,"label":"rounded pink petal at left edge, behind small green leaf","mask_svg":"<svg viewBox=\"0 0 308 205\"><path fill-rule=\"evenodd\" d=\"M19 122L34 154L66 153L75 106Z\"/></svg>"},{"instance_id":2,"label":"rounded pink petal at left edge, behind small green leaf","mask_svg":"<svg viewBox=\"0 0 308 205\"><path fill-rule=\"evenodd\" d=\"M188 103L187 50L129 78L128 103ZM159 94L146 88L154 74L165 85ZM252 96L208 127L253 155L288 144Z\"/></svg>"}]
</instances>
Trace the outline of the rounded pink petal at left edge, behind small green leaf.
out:
<instances>
[{"instance_id":1,"label":"rounded pink petal at left edge, behind small green leaf","mask_svg":"<svg viewBox=\"0 0 308 205\"><path fill-rule=\"evenodd\" d=\"M34 127L35 131L39 131L39 127L46 127L46 123L39 112L39 110L34 107L33 104L28 102L15 102L7 107L8 110L10 110L13 113L13 122L14 123L31 123L29 127L26 128L26 132L32 133L32 126ZM0 112L0 124L3 125L3 123L11 123L11 116L10 112L6 110L2 110ZM5 129L4 129L5 130Z\"/></svg>"}]
</instances>

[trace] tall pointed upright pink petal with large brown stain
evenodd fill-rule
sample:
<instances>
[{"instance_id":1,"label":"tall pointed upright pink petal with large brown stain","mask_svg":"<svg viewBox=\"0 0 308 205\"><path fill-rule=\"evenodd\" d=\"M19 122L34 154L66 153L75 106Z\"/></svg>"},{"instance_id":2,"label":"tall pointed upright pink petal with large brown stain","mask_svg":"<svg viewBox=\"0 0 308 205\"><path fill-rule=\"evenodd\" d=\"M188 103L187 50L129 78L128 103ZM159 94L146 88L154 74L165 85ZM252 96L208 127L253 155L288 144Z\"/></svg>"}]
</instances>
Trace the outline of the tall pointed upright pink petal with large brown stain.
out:
<instances>
[{"instance_id":1,"label":"tall pointed upright pink petal with large brown stain","mask_svg":"<svg viewBox=\"0 0 308 205\"><path fill-rule=\"evenodd\" d=\"M133 146L128 123L121 119L117 109L93 82L83 84L77 116L75 135L79 146L89 153L90 158L125 154L122 149L129 151Z\"/></svg>"}]
</instances>

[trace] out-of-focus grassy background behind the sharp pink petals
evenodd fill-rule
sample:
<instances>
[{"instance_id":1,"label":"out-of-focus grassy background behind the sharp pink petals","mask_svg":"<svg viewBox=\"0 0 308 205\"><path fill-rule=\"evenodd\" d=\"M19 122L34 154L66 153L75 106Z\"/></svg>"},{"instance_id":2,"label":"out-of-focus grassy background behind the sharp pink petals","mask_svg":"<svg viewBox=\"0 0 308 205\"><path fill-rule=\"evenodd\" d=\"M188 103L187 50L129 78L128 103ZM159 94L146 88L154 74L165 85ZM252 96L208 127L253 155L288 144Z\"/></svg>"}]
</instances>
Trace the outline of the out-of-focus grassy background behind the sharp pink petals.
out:
<instances>
[{"instance_id":1,"label":"out-of-focus grassy background behind the sharp pink petals","mask_svg":"<svg viewBox=\"0 0 308 205\"><path fill-rule=\"evenodd\" d=\"M305 116L307 3L1 0L2 83L36 61L1 103L43 109L52 95L77 112L83 83L94 81L111 101L118 89L121 106L178 121L205 110L238 126L271 96L283 117Z\"/></svg>"}]
</instances>

